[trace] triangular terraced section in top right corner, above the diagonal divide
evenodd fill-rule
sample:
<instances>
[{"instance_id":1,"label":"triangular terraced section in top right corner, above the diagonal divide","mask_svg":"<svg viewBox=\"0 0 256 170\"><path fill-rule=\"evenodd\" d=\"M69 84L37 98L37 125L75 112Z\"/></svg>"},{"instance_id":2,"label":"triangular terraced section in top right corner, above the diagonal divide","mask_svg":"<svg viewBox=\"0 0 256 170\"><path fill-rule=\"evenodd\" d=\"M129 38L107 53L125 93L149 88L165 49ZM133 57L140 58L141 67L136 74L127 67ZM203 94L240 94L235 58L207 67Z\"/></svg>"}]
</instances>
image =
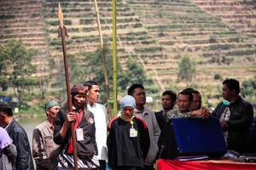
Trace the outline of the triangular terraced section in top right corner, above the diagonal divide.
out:
<instances>
[{"instance_id":1,"label":"triangular terraced section in top right corner, above the diagonal divide","mask_svg":"<svg viewBox=\"0 0 256 170\"><path fill-rule=\"evenodd\" d=\"M254 0L193 0L208 13L213 14L249 37L256 37L256 8Z\"/></svg>"}]
</instances>

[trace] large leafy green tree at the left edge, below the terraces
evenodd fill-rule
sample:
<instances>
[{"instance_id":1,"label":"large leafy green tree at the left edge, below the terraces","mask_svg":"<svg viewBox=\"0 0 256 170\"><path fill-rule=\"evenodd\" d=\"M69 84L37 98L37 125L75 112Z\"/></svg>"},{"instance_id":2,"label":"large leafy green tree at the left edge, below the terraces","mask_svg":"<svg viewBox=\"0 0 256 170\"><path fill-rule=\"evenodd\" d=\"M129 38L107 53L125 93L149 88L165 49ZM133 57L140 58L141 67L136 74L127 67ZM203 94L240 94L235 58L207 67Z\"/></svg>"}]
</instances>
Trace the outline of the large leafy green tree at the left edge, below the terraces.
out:
<instances>
[{"instance_id":1,"label":"large leafy green tree at the left edge, below the terraces","mask_svg":"<svg viewBox=\"0 0 256 170\"><path fill-rule=\"evenodd\" d=\"M11 40L0 46L0 86L3 90L12 87L20 102L24 89L37 83L29 77L35 71L33 55L20 41Z\"/></svg>"}]
</instances>

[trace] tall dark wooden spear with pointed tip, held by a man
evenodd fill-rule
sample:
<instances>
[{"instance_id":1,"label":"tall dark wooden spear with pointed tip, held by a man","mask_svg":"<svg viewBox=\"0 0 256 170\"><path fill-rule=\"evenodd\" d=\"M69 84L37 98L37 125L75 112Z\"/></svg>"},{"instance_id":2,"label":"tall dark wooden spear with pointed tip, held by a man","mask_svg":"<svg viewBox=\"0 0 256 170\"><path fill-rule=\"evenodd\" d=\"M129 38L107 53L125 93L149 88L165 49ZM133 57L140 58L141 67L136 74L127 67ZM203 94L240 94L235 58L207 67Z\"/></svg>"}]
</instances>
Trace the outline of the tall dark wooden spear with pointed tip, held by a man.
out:
<instances>
[{"instance_id":1,"label":"tall dark wooden spear with pointed tip, held by a man","mask_svg":"<svg viewBox=\"0 0 256 170\"><path fill-rule=\"evenodd\" d=\"M65 42L65 37L68 37L68 36L67 36L67 28L64 26L64 22L63 22L61 3L59 3L58 17L60 20L60 27L58 30L59 36L58 37L61 37L61 43L62 43L62 51L63 51L63 59L64 59L64 67L65 67L65 77L66 77L66 87L67 87L67 104L68 104L68 110L73 111L70 82L69 82L69 77L68 77L67 48L66 48L66 42ZM79 170L77 142L76 142L75 132L74 132L74 122L71 122L71 136L72 136L72 140L73 140L74 169Z\"/></svg>"}]
</instances>

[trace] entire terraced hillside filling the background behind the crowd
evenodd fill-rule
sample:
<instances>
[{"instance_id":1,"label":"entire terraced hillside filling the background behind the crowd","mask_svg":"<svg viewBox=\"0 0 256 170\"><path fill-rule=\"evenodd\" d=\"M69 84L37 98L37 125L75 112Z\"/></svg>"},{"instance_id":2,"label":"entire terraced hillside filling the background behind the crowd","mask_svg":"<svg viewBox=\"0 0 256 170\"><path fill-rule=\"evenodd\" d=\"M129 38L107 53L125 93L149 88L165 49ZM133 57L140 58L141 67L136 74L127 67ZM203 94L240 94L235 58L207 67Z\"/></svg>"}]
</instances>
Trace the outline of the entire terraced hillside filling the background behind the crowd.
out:
<instances>
[{"instance_id":1,"label":"entire terraced hillside filling the background behind the crowd","mask_svg":"<svg viewBox=\"0 0 256 170\"><path fill-rule=\"evenodd\" d=\"M255 8L249 0L244 2L118 1L119 61L125 69L128 57L136 58L160 88L186 86L177 83L177 61L183 55L196 60L195 82L201 82L198 88L205 91L220 84L214 80L216 75L247 80L256 73ZM53 73L58 73L62 52L57 37L57 3L57 0L0 0L0 44L9 38L19 38L40 52L34 59L38 68L53 59ZM111 47L112 2L101 0L98 6L103 37ZM79 65L86 65L81 52L94 51L99 46L93 1L61 1L61 7L69 35L68 55L73 55ZM243 25L237 24L240 20Z\"/></svg>"}]
</instances>

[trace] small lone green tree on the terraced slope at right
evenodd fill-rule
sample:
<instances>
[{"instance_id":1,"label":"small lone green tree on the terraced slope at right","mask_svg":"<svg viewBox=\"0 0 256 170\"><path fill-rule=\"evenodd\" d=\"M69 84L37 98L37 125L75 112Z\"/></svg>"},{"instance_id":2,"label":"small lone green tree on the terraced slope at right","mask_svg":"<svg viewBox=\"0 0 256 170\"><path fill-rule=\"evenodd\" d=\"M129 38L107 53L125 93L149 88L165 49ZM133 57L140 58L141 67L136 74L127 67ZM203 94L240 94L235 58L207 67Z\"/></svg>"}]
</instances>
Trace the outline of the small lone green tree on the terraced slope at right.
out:
<instances>
[{"instance_id":1,"label":"small lone green tree on the terraced slope at right","mask_svg":"<svg viewBox=\"0 0 256 170\"><path fill-rule=\"evenodd\" d=\"M178 62L177 78L178 80L191 82L195 75L195 61L185 55Z\"/></svg>"}]
</instances>

